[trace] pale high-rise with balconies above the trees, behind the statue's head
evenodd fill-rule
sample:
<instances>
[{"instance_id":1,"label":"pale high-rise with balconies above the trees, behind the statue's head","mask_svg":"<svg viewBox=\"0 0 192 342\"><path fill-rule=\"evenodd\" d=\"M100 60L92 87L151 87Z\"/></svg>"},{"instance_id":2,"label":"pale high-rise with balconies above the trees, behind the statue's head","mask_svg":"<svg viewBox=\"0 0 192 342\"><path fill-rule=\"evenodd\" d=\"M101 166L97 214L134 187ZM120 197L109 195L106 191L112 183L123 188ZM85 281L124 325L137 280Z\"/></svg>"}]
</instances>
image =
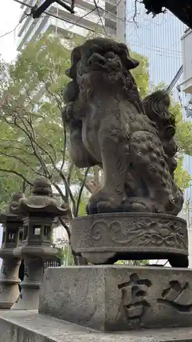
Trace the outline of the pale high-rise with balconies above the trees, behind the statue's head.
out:
<instances>
[{"instance_id":1,"label":"pale high-rise with balconies above the trees, behind the statue's head","mask_svg":"<svg viewBox=\"0 0 192 342\"><path fill-rule=\"evenodd\" d=\"M25 0L28 5L35 5L36 0ZM44 0L38 1L38 5ZM66 0L70 4L70 0ZM76 0L74 14L68 12L61 5L53 3L46 12L62 18L59 20L49 15L42 14L40 18L33 19L27 16L18 27L17 50L20 51L26 42L43 34L49 29L51 33L60 34L64 38L71 38L73 34L87 36L90 31L99 31L105 27L109 36L115 36L118 40L125 41L126 31L126 1L125 0L97 0L98 8L95 8L94 0ZM24 18L30 8L21 5L20 19ZM102 22L101 22L102 21Z\"/></svg>"}]
</instances>

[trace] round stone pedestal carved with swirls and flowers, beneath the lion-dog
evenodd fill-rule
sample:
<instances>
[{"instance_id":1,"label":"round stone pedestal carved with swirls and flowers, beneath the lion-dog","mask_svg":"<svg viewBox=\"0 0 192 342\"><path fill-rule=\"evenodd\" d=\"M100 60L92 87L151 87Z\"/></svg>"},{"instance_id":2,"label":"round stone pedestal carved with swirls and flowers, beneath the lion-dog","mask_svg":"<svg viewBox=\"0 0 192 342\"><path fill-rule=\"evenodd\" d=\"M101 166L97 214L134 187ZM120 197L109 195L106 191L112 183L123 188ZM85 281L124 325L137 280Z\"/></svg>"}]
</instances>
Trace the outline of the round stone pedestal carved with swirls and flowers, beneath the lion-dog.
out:
<instances>
[{"instance_id":1,"label":"round stone pedestal carved with swirls and flowers, beneath the lion-dog","mask_svg":"<svg viewBox=\"0 0 192 342\"><path fill-rule=\"evenodd\" d=\"M169 259L188 267L187 222L156 213L103 213L75 218L72 249L93 264Z\"/></svg>"}]
</instances>

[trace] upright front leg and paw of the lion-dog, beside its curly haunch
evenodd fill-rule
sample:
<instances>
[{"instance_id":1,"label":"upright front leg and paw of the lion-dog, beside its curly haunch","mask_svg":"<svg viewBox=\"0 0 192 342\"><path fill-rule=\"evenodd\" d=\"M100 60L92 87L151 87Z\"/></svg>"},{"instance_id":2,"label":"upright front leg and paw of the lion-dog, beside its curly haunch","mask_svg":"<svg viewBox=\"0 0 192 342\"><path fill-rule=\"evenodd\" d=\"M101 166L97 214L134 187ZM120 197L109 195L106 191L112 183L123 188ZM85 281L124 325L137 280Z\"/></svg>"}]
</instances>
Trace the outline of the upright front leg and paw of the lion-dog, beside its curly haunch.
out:
<instances>
[{"instance_id":1,"label":"upright front leg and paw of the lion-dog, beside its curly haunch","mask_svg":"<svg viewBox=\"0 0 192 342\"><path fill-rule=\"evenodd\" d=\"M98 131L104 179L100 191L90 198L87 205L88 214L122 211L128 137L125 129L120 127L119 120L119 118L103 120Z\"/></svg>"}]
</instances>

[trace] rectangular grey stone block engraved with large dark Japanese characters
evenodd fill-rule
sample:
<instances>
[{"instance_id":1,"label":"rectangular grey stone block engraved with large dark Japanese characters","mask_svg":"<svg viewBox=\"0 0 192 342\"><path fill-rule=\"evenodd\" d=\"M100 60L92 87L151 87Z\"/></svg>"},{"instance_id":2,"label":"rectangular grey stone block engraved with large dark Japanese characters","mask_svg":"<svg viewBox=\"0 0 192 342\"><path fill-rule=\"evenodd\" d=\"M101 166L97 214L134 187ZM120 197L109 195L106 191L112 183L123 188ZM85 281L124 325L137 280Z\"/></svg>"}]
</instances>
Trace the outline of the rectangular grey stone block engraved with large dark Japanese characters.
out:
<instances>
[{"instance_id":1,"label":"rectangular grey stone block engraved with large dark Japanese characters","mask_svg":"<svg viewBox=\"0 0 192 342\"><path fill-rule=\"evenodd\" d=\"M192 270L128 265L49 268L39 312L100 331L192 326Z\"/></svg>"}]
</instances>

